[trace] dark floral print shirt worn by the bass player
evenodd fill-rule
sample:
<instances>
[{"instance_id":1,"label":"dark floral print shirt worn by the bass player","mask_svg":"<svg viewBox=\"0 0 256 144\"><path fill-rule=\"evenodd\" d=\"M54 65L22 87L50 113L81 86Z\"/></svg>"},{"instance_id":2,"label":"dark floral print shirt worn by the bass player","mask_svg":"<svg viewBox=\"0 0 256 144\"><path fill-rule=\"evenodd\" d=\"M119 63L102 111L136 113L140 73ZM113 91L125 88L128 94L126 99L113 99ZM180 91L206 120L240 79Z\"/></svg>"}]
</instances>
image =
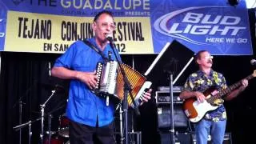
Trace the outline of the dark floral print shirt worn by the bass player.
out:
<instances>
[{"instance_id":1,"label":"dark floral print shirt worn by the bass player","mask_svg":"<svg viewBox=\"0 0 256 144\"><path fill-rule=\"evenodd\" d=\"M213 86L215 90L218 91L226 89L227 86L224 76L214 70L210 70L210 75L207 76L202 70L198 70L190 74L182 90L204 92ZM226 110L223 106L223 102L223 99L217 99L214 103L217 104L218 108L208 111L205 115L205 119L214 122L226 120Z\"/></svg>"}]
</instances>

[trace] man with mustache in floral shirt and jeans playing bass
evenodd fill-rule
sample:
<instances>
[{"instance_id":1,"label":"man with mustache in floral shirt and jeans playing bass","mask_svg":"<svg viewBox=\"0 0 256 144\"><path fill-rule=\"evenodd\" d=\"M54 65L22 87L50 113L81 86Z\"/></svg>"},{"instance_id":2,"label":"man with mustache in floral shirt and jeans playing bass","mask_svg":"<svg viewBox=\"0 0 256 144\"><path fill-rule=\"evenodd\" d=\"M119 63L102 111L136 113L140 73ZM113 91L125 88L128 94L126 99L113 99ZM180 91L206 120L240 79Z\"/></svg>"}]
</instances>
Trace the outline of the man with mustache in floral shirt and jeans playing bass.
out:
<instances>
[{"instance_id":1,"label":"man with mustache in floral shirt and jeans playing bass","mask_svg":"<svg viewBox=\"0 0 256 144\"><path fill-rule=\"evenodd\" d=\"M198 51L195 56L195 61L199 66L199 70L190 74L183 87L180 98L197 98L198 102L204 102L206 97L202 94L210 87L215 87L216 90L226 89L226 80L221 73L211 69L213 65L213 56L206 50ZM224 97L225 100L235 98L240 92L246 89L248 81L242 79L241 86L233 90ZM222 144L225 129L226 129L226 110L223 106L223 99L216 99L214 104L218 106L217 109L206 113L201 121L195 123L195 134L198 144L206 144L208 135L211 135L213 144Z\"/></svg>"}]
</instances>

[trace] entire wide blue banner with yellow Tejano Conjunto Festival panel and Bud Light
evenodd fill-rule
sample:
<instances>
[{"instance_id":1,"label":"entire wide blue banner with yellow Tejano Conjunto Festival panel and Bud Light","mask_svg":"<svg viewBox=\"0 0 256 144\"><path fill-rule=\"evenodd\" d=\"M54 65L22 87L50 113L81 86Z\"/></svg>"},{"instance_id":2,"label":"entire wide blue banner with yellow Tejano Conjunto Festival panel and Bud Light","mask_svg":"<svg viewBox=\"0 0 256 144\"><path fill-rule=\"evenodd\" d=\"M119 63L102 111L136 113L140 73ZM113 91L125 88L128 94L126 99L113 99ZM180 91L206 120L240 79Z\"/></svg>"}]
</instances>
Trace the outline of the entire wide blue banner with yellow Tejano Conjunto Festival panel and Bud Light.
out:
<instances>
[{"instance_id":1,"label":"entire wide blue banner with yellow Tejano Conjunto Festival panel and Bud Light","mask_svg":"<svg viewBox=\"0 0 256 144\"><path fill-rule=\"evenodd\" d=\"M64 53L94 36L101 10L114 14L120 54L158 54L174 39L195 53L253 54L243 0L0 0L0 51Z\"/></svg>"}]
</instances>

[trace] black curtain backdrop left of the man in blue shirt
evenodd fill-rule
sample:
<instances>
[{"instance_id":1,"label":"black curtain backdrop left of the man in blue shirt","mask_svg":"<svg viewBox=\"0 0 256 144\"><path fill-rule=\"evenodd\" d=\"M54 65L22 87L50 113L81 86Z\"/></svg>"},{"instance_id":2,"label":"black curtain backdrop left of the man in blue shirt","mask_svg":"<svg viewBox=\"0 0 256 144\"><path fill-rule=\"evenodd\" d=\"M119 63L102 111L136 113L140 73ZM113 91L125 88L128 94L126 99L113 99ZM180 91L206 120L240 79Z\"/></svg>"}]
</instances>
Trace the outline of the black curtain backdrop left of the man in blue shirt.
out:
<instances>
[{"instance_id":1,"label":"black curtain backdrop left of the man in blue shirt","mask_svg":"<svg viewBox=\"0 0 256 144\"><path fill-rule=\"evenodd\" d=\"M31 122L31 143L38 143L40 133L41 106L50 98L44 108L46 117L58 116L64 113L59 107L66 104L66 87L68 82L51 78L49 65L52 66L54 58L58 54L30 54L2 52L1 71L1 130L0 143L18 143L19 132L13 129L18 126L20 113L19 106L22 102L22 123ZM59 86L65 86L65 90L60 90ZM58 109L59 108L59 109ZM56 110L56 111L54 111ZM56 114L57 113L57 114ZM58 118L56 118L58 120ZM47 119L46 125L47 126ZM56 130L56 128L54 128ZM22 143L28 143L29 125L22 129ZM47 130L47 129L46 129Z\"/></svg>"}]
</instances>

